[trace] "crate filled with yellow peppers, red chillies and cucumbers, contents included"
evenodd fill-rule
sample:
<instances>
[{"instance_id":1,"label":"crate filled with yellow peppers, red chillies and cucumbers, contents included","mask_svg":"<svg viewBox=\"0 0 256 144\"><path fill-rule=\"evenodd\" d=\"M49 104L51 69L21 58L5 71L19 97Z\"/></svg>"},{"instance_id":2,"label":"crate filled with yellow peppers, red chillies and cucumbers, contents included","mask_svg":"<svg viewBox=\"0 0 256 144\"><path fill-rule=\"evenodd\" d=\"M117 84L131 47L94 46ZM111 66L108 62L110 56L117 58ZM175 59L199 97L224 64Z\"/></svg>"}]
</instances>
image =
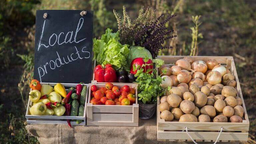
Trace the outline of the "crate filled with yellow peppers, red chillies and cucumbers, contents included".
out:
<instances>
[{"instance_id":1,"label":"crate filled with yellow peppers, red chillies and cucumbers, contents included","mask_svg":"<svg viewBox=\"0 0 256 144\"><path fill-rule=\"evenodd\" d=\"M85 125L88 84L30 83L28 124Z\"/></svg>"}]
</instances>

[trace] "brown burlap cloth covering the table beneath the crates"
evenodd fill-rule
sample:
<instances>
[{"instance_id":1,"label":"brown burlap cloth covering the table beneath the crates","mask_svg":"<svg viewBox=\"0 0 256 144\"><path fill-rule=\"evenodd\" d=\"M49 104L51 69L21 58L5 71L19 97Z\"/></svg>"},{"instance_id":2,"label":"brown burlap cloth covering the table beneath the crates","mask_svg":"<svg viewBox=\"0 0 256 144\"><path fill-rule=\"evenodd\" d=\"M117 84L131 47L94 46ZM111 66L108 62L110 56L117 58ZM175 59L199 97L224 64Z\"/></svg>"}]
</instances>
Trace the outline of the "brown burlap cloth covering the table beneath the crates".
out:
<instances>
[{"instance_id":1,"label":"brown burlap cloth covering the table beneath the crates","mask_svg":"<svg viewBox=\"0 0 256 144\"><path fill-rule=\"evenodd\" d=\"M68 125L28 124L26 129L30 135L37 137L40 144L193 144L157 141L155 117L149 120L140 119L138 127L73 126L71 129ZM204 142L198 142L200 143ZM210 143L213 142L207 142Z\"/></svg>"}]
</instances>

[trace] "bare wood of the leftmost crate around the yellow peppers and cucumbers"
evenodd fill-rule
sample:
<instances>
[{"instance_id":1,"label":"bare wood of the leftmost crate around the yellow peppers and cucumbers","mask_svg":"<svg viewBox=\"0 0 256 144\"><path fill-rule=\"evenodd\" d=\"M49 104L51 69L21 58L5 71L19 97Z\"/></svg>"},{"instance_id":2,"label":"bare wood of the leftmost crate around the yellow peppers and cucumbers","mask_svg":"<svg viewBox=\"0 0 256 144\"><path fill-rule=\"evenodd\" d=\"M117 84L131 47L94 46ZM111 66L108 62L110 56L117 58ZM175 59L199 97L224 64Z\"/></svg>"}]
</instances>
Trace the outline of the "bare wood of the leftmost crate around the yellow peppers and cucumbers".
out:
<instances>
[{"instance_id":1,"label":"bare wood of the leftmost crate around the yellow peppers and cucumbers","mask_svg":"<svg viewBox=\"0 0 256 144\"><path fill-rule=\"evenodd\" d=\"M47 82L41 82L41 84L49 84L51 86L54 86L56 83L47 83ZM75 87L77 83L62 83L65 88L68 87ZM89 84L82 84L87 85L89 88ZM88 89L87 88L87 89ZM30 115L29 113L29 107L32 106L32 103L30 100L28 100L27 110L26 110L26 119L28 124L67 124L67 119L71 120L82 120L80 124L76 124L76 121L71 121L71 125L85 125L86 124L86 104L88 99L88 90L86 94L86 100L84 105L84 115L83 116L56 116L56 115Z\"/></svg>"}]
</instances>

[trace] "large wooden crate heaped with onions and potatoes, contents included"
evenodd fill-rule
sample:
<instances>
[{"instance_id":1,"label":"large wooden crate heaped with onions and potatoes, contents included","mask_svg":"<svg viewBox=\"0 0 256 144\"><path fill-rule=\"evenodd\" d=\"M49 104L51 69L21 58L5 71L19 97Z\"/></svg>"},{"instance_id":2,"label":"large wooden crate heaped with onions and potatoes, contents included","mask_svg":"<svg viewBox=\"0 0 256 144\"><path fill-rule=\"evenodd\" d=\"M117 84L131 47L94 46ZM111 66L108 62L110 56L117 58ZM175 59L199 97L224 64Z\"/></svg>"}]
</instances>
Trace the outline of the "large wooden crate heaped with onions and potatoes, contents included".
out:
<instances>
[{"instance_id":1,"label":"large wooden crate heaped with onions and potatoes, contents included","mask_svg":"<svg viewBox=\"0 0 256 144\"><path fill-rule=\"evenodd\" d=\"M233 57L158 56L157 139L247 141L249 119Z\"/></svg>"}]
</instances>

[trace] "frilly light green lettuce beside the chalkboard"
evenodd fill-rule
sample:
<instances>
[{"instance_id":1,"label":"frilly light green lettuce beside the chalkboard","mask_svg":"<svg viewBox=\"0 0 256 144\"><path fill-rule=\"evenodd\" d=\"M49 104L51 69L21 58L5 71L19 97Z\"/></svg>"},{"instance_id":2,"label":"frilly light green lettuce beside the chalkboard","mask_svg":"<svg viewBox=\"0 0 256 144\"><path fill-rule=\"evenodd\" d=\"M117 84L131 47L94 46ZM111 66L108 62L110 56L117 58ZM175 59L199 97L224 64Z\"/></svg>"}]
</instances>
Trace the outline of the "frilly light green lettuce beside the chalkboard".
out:
<instances>
[{"instance_id":1,"label":"frilly light green lettuce beside the chalkboard","mask_svg":"<svg viewBox=\"0 0 256 144\"><path fill-rule=\"evenodd\" d=\"M120 68L128 70L126 58L129 54L129 45L120 44L119 33L111 32L112 30L108 28L100 40L93 39L93 59L101 65L111 64L116 70Z\"/></svg>"}]
</instances>

